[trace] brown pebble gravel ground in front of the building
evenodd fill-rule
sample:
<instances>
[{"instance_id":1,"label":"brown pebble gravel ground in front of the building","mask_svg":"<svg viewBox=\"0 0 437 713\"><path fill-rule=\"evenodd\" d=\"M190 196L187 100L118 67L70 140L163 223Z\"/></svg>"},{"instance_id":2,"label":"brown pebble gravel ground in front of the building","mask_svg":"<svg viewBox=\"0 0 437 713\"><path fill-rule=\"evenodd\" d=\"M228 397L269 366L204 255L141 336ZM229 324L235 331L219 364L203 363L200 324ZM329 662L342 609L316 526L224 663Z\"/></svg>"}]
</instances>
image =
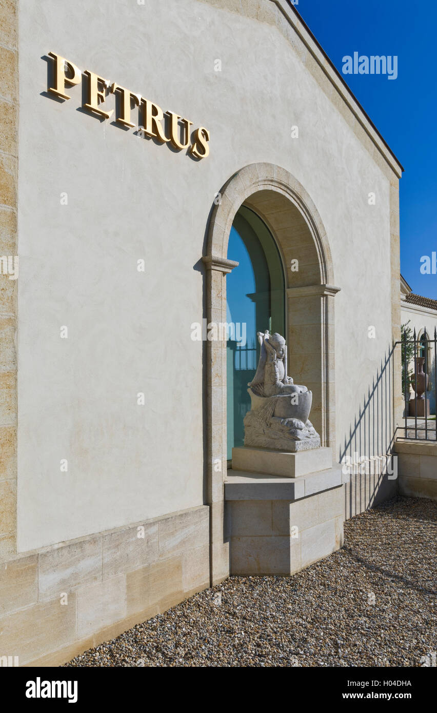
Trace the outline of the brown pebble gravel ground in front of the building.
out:
<instances>
[{"instance_id":1,"label":"brown pebble gravel ground in front of the building","mask_svg":"<svg viewBox=\"0 0 437 713\"><path fill-rule=\"evenodd\" d=\"M421 666L437 650L436 545L437 503L394 498L302 572L232 577L66 666Z\"/></svg>"}]
</instances>

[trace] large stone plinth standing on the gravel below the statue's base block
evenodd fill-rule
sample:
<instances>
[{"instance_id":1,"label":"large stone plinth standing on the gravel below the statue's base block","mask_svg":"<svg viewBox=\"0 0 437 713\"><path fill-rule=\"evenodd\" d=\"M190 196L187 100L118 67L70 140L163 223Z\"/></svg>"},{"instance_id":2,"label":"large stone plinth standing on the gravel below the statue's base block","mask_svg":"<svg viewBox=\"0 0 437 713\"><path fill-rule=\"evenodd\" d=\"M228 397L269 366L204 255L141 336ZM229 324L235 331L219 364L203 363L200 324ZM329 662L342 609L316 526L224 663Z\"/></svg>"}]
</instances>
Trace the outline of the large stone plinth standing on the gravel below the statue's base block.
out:
<instances>
[{"instance_id":1,"label":"large stone plinth standing on the gravel below the statue's base block","mask_svg":"<svg viewBox=\"0 0 437 713\"><path fill-rule=\"evenodd\" d=\"M232 575L289 576L343 545L340 466L301 478L228 471Z\"/></svg>"}]
</instances>

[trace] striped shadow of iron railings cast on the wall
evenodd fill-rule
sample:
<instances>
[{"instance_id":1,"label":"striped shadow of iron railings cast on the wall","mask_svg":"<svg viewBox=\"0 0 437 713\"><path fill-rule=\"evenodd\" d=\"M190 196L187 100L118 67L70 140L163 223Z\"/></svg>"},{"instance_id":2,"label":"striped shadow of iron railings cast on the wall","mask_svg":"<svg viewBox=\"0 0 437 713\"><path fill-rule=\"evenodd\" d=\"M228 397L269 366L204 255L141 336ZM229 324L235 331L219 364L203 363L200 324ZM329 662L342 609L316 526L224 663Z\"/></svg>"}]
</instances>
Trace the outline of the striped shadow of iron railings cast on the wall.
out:
<instances>
[{"instance_id":1,"label":"striped shadow of iron railings cast on the wall","mask_svg":"<svg viewBox=\"0 0 437 713\"><path fill-rule=\"evenodd\" d=\"M395 439L394 355L396 347L384 354L376 379L364 396L354 426L340 447L339 462L346 483L345 518L358 515L393 497L398 489L396 461L392 456Z\"/></svg>"}]
</instances>

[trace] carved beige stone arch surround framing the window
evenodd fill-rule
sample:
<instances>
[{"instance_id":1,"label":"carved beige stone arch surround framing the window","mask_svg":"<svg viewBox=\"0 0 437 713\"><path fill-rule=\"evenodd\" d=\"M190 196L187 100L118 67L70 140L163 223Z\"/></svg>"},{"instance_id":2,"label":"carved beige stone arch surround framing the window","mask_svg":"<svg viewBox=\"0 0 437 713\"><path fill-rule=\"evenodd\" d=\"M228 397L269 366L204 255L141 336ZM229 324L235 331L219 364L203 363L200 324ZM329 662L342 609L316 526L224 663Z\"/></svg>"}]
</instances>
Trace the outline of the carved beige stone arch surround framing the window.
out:
<instances>
[{"instance_id":1,"label":"carved beige stone arch surround framing the window","mask_svg":"<svg viewBox=\"0 0 437 713\"><path fill-rule=\"evenodd\" d=\"M227 255L232 222L242 206L264 220L284 265L288 370L313 392L310 419L322 445L335 453L334 268L327 232L314 202L294 176L270 163L247 165L220 190L210 217L207 254L207 320L226 322L226 275L237 267ZM292 270L292 260L299 270ZM226 342L207 342L207 503L210 505L211 583L229 573L223 507L226 475ZM217 464L221 465L221 470Z\"/></svg>"}]
</instances>

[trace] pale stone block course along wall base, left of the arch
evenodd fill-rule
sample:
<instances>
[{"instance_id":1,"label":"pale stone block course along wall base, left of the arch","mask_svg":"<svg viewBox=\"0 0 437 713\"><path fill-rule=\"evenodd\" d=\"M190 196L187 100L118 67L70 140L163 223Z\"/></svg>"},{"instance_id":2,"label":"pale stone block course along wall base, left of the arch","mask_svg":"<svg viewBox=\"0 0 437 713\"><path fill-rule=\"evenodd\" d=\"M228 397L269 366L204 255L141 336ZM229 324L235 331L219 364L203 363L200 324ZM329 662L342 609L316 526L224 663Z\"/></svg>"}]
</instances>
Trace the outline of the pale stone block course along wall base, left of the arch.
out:
<instances>
[{"instance_id":1,"label":"pale stone block course along wall base, left of the arch","mask_svg":"<svg viewBox=\"0 0 437 713\"><path fill-rule=\"evenodd\" d=\"M4 558L0 656L56 666L209 587L209 518L199 506Z\"/></svg>"}]
</instances>

